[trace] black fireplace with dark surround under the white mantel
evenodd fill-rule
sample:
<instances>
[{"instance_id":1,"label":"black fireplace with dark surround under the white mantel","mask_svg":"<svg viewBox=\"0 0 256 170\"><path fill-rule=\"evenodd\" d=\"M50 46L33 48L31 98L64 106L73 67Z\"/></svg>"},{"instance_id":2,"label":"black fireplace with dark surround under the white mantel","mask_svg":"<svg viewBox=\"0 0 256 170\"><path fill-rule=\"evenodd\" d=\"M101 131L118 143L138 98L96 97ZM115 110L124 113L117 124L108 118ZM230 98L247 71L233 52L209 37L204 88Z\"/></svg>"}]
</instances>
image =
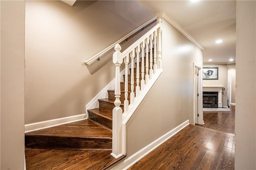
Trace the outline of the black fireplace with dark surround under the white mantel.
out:
<instances>
[{"instance_id":1,"label":"black fireplace with dark surround under the white mantel","mask_svg":"<svg viewBox=\"0 0 256 170\"><path fill-rule=\"evenodd\" d=\"M203 91L203 108L218 108L218 91Z\"/></svg>"}]
</instances>

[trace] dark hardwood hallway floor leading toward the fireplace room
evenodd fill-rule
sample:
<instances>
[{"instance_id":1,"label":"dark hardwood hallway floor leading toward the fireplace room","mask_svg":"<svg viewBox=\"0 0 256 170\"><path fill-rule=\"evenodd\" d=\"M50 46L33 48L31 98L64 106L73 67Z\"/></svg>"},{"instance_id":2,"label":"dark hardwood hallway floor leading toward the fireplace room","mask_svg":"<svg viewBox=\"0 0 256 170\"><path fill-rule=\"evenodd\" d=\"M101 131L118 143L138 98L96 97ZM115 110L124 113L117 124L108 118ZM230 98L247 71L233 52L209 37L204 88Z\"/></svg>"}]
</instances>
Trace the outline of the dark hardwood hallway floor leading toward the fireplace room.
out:
<instances>
[{"instance_id":1,"label":"dark hardwood hallway floor leading toward the fireplace room","mask_svg":"<svg viewBox=\"0 0 256 170\"><path fill-rule=\"evenodd\" d=\"M204 112L205 125L188 125L129 170L233 170L234 114L234 106L231 111Z\"/></svg>"}]
</instances>

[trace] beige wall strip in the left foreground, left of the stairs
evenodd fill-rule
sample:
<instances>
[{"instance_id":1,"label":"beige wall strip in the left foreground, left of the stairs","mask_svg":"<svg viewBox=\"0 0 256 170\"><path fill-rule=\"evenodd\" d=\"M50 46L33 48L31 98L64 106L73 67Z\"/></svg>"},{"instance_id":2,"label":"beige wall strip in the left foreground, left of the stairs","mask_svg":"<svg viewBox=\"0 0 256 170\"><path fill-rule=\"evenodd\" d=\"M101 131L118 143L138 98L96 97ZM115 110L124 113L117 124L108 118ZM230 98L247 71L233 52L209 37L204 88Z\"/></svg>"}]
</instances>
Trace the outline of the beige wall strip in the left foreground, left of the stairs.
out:
<instances>
[{"instance_id":1,"label":"beige wall strip in the left foreground, left of the stairs","mask_svg":"<svg viewBox=\"0 0 256 170\"><path fill-rule=\"evenodd\" d=\"M1 170L24 169L25 1L1 4Z\"/></svg>"}]
</instances>

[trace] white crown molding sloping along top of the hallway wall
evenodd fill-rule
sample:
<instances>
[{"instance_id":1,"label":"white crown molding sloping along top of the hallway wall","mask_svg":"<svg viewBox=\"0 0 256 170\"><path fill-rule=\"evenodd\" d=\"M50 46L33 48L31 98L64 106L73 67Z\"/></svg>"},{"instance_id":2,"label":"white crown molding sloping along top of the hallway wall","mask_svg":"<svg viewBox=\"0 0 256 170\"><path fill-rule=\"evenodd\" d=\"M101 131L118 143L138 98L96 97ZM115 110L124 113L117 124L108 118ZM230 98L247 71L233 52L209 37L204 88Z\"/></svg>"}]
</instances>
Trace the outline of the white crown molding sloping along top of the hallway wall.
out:
<instances>
[{"instance_id":1,"label":"white crown molding sloping along top of the hallway wall","mask_svg":"<svg viewBox=\"0 0 256 170\"><path fill-rule=\"evenodd\" d=\"M170 17L166 12L158 12L156 14L157 17L163 17L168 21L172 26L174 26L177 30L179 30L184 36L186 36L190 41L192 41L194 44L196 44L200 49L204 50L204 47L200 45L186 30L184 30L172 17Z\"/></svg>"}]
</instances>

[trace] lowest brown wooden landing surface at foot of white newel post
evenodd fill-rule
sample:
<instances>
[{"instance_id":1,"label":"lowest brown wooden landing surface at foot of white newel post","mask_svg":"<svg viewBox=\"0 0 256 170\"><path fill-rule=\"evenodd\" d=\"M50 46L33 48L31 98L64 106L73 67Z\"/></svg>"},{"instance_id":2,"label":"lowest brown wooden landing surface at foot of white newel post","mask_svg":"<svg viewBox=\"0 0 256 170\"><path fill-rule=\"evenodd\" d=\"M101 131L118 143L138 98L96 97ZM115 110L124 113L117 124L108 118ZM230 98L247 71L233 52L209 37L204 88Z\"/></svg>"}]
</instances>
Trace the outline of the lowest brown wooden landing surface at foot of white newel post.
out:
<instances>
[{"instance_id":1,"label":"lowest brown wooden landing surface at foot of white newel post","mask_svg":"<svg viewBox=\"0 0 256 170\"><path fill-rule=\"evenodd\" d=\"M25 148L26 169L105 170L126 155L114 158L111 151L49 150Z\"/></svg>"}]
</instances>

